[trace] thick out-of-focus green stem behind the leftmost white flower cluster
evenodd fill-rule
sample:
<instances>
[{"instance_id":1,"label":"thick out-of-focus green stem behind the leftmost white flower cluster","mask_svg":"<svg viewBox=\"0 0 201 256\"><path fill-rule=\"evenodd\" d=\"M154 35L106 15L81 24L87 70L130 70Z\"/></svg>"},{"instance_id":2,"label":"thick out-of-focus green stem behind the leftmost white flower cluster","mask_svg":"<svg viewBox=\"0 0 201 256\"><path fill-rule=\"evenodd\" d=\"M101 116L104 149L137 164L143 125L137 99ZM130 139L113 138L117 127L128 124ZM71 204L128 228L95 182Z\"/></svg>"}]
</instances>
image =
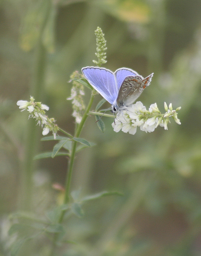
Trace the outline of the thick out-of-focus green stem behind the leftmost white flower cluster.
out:
<instances>
[{"instance_id":1,"label":"thick out-of-focus green stem behind the leftmost white flower cluster","mask_svg":"<svg viewBox=\"0 0 201 256\"><path fill-rule=\"evenodd\" d=\"M43 95L44 88L44 75L46 68L46 49L42 43L42 35L48 16L51 10L52 0L46 0L47 8L46 14L44 17L43 24L40 28L40 36L38 38L38 44L36 46L36 55L35 55L35 65L34 65L34 74L32 88L30 94L34 96L37 100L40 100ZM32 202L32 176L34 170L33 158L36 152L37 140L36 140L36 124L33 119L29 120L27 126L26 134L26 146L25 146L25 156L24 156L24 167L22 168L22 184L20 184L20 193L19 193L19 203L21 210L30 210Z\"/></svg>"}]
</instances>

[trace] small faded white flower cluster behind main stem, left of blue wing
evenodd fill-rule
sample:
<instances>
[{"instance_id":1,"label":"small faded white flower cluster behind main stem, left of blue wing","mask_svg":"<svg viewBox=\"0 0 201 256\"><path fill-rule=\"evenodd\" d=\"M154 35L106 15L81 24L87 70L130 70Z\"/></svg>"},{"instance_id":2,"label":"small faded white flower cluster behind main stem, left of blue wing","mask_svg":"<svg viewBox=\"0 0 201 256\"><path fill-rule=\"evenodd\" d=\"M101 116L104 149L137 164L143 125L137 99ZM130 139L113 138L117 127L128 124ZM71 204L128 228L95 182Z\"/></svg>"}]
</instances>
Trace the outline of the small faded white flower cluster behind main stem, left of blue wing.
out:
<instances>
[{"instance_id":1,"label":"small faded white flower cluster behind main stem, left of blue wing","mask_svg":"<svg viewBox=\"0 0 201 256\"><path fill-rule=\"evenodd\" d=\"M80 78L78 72L74 72L70 78ZM82 96L84 95L84 86L76 81L73 81L71 88L71 95L67 100L72 100L73 113L72 116L76 119L76 123L80 124L82 120L82 112L85 110L84 101Z\"/></svg>"}]
</instances>

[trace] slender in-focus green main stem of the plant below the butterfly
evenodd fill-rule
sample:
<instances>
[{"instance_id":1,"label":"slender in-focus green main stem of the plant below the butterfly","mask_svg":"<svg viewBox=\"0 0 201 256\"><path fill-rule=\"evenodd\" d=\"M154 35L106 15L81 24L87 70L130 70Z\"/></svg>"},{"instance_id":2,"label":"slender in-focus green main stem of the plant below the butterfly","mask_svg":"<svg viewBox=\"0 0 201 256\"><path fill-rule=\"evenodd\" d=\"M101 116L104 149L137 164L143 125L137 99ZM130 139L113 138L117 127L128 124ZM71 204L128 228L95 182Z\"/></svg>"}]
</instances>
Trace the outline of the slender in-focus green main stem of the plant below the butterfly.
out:
<instances>
[{"instance_id":1,"label":"slender in-focus green main stem of the plant below the butterfly","mask_svg":"<svg viewBox=\"0 0 201 256\"><path fill-rule=\"evenodd\" d=\"M76 129L76 132L75 132L75 137L76 138L79 138L79 136L80 136L80 133L82 131L84 123L85 123L86 119L88 118L88 113L89 113L90 108L92 106L93 100L94 100L94 92L92 91L89 104L88 104L88 106L86 108L86 111L85 111L85 113L84 113L84 115L82 117L82 120L81 120L80 124L78 125L78 128ZM73 172L74 159L75 159L75 155L76 155L76 146L77 146L77 142L73 140L72 141L72 150L71 150L70 160L69 160L69 165L68 165L68 173L67 173L67 176L66 176L65 195L64 195L64 202L63 202L64 204L68 204L70 202L70 185L71 185L71 180L72 180L72 172ZM66 212L65 210L62 211L62 213L60 215L60 218L58 220L58 223L62 223L62 220L64 218L65 212ZM50 252L50 256L54 256L55 255L54 252L56 250L57 240L58 240L58 234L55 234L54 238L53 238L52 250Z\"/></svg>"}]
</instances>

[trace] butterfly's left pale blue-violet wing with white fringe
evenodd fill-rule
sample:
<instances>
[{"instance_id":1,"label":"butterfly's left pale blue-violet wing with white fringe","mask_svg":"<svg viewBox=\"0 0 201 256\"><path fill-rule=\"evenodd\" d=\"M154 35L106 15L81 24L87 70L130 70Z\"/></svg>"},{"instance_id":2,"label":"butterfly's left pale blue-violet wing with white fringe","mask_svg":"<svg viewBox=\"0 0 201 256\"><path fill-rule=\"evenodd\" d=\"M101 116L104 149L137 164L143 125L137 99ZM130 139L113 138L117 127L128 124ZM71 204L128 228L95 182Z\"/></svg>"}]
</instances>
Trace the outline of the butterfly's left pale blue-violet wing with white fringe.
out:
<instances>
[{"instance_id":1,"label":"butterfly's left pale blue-violet wing with white fringe","mask_svg":"<svg viewBox=\"0 0 201 256\"><path fill-rule=\"evenodd\" d=\"M117 83L113 72L106 68L86 67L82 68L86 80L99 92L110 104L118 95Z\"/></svg>"}]
</instances>

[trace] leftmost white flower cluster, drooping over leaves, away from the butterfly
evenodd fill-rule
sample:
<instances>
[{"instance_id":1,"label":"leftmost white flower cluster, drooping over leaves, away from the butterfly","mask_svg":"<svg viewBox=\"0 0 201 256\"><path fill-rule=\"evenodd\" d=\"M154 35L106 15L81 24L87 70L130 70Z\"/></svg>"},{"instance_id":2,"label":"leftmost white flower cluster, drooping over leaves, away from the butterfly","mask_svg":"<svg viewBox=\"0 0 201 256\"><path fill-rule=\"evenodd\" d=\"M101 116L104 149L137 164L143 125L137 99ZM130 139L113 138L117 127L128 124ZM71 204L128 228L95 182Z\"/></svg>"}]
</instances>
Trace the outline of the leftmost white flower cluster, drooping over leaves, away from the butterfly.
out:
<instances>
[{"instance_id":1,"label":"leftmost white flower cluster, drooping over leaves, away from the butterfly","mask_svg":"<svg viewBox=\"0 0 201 256\"><path fill-rule=\"evenodd\" d=\"M50 131L56 138L56 133L58 131L58 126L55 124L54 118L48 118L44 110L49 110L49 107L41 104L41 102L34 102L34 98L30 97L30 102L26 100L18 100L17 105L24 111L29 112L29 118L36 118L37 124L43 127L43 135L47 135Z\"/></svg>"}]
</instances>

